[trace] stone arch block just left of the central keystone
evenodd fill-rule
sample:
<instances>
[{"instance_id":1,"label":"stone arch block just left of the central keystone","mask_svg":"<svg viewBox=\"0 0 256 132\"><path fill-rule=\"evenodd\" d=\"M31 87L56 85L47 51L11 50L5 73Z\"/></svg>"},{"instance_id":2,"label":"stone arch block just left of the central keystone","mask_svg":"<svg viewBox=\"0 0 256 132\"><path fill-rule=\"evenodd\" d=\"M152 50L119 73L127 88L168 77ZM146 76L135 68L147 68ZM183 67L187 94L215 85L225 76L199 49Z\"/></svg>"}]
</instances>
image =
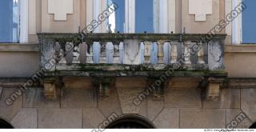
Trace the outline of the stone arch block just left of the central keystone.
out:
<instances>
[{"instance_id":1,"label":"stone arch block just left of the central keystone","mask_svg":"<svg viewBox=\"0 0 256 132\"><path fill-rule=\"evenodd\" d=\"M113 112L122 114L118 92L115 87L110 88L109 97L98 97L98 109L102 111L102 114L104 114L105 117L109 116Z\"/></svg>"}]
</instances>

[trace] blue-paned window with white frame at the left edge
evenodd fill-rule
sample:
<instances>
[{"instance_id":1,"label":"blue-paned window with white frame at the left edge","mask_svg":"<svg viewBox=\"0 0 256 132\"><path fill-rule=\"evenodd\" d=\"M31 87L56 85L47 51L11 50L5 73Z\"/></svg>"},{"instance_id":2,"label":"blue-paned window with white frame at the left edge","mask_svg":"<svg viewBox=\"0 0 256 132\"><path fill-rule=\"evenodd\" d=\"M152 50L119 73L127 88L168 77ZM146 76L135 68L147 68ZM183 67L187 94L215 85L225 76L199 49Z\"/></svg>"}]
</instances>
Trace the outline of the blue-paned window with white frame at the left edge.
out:
<instances>
[{"instance_id":1,"label":"blue-paned window with white frame at the left edge","mask_svg":"<svg viewBox=\"0 0 256 132\"><path fill-rule=\"evenodd\" d=\"M19 1L0 1L0 42L19 41Z\"/></svg>"}]
</instances>

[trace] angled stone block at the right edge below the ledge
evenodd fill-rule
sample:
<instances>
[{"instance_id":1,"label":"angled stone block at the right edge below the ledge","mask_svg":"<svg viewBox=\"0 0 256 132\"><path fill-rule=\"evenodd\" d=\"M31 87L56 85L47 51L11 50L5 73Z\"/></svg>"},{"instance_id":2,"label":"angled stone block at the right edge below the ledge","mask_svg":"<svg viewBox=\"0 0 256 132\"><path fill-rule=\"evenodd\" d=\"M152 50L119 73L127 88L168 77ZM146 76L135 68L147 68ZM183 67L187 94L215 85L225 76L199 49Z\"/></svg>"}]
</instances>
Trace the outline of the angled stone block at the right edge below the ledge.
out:
<instances>
[{"instance_id":1,"label":"angled stone block at the right edge below the ledge","mask_svg":"<svg viewBox=\"0 0 256 132\"><path fill-rule=\"evenodd\" d=\"M241 109L250 118L256 122L256 89L241 90Z\"/></svg>"}]
</instances>

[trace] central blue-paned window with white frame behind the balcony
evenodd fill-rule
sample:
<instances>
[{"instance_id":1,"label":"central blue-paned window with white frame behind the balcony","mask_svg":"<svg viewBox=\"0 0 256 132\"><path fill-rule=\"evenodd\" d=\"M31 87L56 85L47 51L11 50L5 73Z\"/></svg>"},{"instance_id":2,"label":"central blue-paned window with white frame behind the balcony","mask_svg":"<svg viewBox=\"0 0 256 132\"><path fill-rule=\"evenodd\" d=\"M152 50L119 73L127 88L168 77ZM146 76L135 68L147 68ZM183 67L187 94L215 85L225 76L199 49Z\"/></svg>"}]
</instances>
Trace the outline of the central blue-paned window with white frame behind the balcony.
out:
<instances>
[{"instance_id":1,"label":"central blue-paned window with white frame behind the balcony","mask_svg":"<svg viewBox=\"0 0 256 132\"><path fill-rule=\"evenodd\" d=\"M109 30L111 29L112 33L167 32L160 30L160 28L168 29L166 25L168 1L108 0L108 6L113 2L118 6L118 9L110 15L107 23L107 27ZM161 21L159 21L160 18Z\"/></svg>"}]
</instances>

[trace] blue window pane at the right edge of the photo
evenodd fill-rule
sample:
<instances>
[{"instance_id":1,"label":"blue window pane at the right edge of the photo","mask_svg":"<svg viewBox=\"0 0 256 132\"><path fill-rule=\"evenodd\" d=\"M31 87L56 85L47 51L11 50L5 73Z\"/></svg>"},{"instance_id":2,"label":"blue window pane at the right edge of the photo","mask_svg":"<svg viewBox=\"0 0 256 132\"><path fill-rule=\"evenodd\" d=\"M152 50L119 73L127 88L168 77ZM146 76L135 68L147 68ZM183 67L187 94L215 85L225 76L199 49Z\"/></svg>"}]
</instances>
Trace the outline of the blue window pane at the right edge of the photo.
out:
<instances>
[{"instance_id":1,"label":"blue window pane at the right edge of the photo","mask_svg":"<svg viewBox=\"0 0 256 132\"><path fill-rule=\"evenodd\" d=\"M242 12L242 43L256 43L256 1L242 0L246 10Z\"/></svg>"}]
</instances>

